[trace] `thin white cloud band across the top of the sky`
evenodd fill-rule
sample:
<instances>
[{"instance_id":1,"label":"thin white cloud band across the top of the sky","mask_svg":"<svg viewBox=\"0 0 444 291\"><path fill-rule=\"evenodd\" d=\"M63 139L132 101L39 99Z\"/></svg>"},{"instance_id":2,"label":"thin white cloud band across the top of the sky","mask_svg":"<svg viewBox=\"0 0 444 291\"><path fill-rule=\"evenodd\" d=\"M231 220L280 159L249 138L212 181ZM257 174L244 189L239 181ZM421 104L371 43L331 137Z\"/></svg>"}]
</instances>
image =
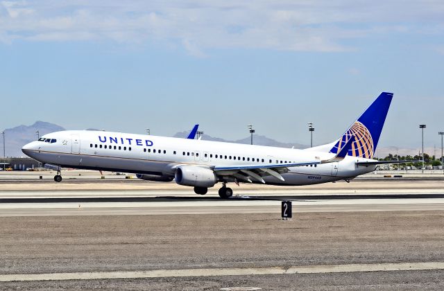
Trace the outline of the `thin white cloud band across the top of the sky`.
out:
<instances>
[{"instance_id":1,"label":"thin white cloud band across the top of the sky","mask_svg":"<svg viewBox=\"0 0 444 291\"><path fill-rule=\"evenodd\" d=\"M443 1L3 1L0 42L146 40L208 48L347 51L344 39L443 27ZM2 12L3 11L3 12ZM409 26L404 24L410 24ZM420 33L421 28L415 30ZM438 34L443 33L438 29Z\"/></svg>"}]
</instances>

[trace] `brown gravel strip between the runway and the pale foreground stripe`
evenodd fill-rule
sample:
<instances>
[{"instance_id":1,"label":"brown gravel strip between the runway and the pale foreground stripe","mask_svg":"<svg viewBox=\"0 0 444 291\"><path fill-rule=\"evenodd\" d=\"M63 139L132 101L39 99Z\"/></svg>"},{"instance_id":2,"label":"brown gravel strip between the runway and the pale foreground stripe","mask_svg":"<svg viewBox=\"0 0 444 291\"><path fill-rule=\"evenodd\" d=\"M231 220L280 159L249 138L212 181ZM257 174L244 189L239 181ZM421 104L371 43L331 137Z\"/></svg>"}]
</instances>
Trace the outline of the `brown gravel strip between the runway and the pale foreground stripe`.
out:
<instances>
[{"instance_id":1,"label":"brown gravel strip between the runway and the pale foreground stripe","mask_svg":"<svg viewBox=\"0 0 444 291\"><path fill-rule=\"evenodd\" d=\"M0 273L444 261L444 213L0 218Z\"/></svg>"}]
</instances>

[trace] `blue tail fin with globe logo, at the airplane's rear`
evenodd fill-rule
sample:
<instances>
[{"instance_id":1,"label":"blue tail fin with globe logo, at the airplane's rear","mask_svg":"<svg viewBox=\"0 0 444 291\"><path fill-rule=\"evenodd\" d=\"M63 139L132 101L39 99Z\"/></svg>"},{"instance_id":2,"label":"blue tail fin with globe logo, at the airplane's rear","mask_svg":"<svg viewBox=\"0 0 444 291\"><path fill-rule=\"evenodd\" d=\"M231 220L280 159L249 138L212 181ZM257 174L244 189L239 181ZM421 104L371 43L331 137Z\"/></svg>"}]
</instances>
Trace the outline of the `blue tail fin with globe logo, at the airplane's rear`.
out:
<instances>
[{"instance_id":1,"label":"blue tail fin with globe logo, at the airplane's rear","mask_svg":"<svg viewBox=\"0 0 444 291\"><path fill-rule=\"evenodd\" d=\"M341 136L341 139L336 142L330 152L336 154L352 136L355 136L355 141L352 143L351 150L348 150L348 155L372 159L392 98L393 93L382 92Z\"/></svg>"}]
</instances>

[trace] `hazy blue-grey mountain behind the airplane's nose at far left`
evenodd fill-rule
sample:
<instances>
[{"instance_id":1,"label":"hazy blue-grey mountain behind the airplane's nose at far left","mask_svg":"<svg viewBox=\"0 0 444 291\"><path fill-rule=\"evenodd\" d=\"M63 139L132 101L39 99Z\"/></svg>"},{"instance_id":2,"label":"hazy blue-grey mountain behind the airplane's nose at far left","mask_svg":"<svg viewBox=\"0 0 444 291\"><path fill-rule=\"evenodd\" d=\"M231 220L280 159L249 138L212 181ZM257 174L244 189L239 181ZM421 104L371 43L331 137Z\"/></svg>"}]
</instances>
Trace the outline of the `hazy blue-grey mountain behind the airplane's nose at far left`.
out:
<instances>
[{"instance_id":1,"label":"hazy blue-grey mountain behind the airplane's nose at far left","mask_svg":"<svg viewBox=\"0 0 444 291\"><path fill-rule=\"evenodd\" d=\"M5 132L6 157L23 157L22 146L37 139L37 130L39 135L42 136L50 132L65 130L65 128L44 121L37 121L33 125L19 125L8 128L3 131ZM0 142L0 155L3 156L3 141Z\"/></svg>"}]
</instances>

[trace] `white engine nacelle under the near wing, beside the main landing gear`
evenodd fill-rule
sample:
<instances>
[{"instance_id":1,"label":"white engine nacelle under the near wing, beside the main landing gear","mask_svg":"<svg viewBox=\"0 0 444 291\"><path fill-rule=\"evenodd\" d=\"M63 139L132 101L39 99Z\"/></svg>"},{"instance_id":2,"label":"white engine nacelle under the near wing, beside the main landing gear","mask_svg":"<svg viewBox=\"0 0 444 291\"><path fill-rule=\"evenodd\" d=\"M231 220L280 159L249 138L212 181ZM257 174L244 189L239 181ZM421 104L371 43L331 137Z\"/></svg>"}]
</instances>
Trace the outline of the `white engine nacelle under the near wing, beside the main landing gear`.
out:
<instances>
[{"instance_id":1,"label":"white engine nacelle under the near wing, beside the main landing gear","mask_svg":"<svg viewBox=\"0 0 444 291\"><path fill-rule=\"evenodd\" d=\"M179 185L205 188L212 187L217 182L217 177L212 170L197 166L178 167L175 179Z\"/></svg>"}]
</instances>

